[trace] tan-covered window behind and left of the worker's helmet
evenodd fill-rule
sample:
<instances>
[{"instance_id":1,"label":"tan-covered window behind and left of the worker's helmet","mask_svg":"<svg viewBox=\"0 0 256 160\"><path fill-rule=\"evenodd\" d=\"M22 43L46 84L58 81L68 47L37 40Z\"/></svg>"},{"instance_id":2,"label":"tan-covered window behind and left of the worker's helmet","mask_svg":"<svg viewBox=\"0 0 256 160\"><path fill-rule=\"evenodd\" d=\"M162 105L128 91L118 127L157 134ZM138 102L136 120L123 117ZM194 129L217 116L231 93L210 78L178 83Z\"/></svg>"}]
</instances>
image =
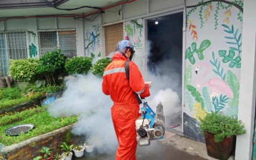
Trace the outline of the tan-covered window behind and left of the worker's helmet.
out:
<instances>
[{"instance_id":1,"label":"tan-covered window behind and left of the worker's helmet","mask_svg":"<svg viewBox=\"0 0 256 160\"><path fill-rule=\"evenodd\" d=\"M105 33L105 55L115 52L115 46L123 40L123 23L104 26Z\"/></svg>"}]
</instances>

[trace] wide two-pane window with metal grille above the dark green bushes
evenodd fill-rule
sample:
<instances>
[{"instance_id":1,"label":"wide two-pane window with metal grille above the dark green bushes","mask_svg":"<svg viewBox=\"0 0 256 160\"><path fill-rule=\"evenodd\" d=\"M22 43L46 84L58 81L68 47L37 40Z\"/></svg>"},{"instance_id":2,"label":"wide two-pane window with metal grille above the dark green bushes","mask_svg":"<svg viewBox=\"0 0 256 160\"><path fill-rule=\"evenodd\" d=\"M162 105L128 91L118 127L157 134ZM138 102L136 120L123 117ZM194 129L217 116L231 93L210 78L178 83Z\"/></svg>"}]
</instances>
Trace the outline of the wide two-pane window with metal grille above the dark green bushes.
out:
<instances>
[{"instance_id":1,"label":"wide two-pane window with metal grille above the dark green bushes","mask_svg":"<svg viewBox=\"0 0 256 160\"><path fill-rule=\"evenodd\" d=\"M76 56L76 31L38 31L39 53L61 49L68 58Z\"/></svg>"}]
</instances>

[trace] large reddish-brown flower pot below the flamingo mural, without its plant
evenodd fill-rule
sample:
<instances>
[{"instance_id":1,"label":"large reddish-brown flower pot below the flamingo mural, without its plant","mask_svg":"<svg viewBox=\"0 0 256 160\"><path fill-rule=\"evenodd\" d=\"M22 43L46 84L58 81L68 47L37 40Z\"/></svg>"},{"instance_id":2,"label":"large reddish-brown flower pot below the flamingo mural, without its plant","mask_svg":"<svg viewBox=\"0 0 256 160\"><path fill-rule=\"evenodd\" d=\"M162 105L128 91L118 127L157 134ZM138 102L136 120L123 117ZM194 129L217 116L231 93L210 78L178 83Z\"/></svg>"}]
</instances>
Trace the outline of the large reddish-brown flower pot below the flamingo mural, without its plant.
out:
<instances>
[{"instance_id":1,"label":"large reddish-brown flower pot below the flamingo mural, without its plant","mask_svg":"<svg viewBox=\"0 0 256 160\"><path fill-rule=\"evenodd\" d=\"M207 135L208 134L208 135ZM234 149L235 136L225 137L223 142L216 143L212 133L205 134L207 154L217 159L228 159Z\"/></svg>"}]
</instances>

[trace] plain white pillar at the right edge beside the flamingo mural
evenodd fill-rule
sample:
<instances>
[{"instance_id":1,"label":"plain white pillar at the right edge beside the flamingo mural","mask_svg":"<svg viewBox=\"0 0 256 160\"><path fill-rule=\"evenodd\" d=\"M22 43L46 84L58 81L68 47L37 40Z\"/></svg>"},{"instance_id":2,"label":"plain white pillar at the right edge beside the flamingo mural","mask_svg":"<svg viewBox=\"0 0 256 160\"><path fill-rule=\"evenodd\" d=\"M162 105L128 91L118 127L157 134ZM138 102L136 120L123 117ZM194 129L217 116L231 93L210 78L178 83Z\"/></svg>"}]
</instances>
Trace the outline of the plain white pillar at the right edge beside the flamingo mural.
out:
<instances>
[{"instance_id":1,"label":"plain white pillar at the right edge beside the flamingo mural","mask_svg":"<svg viewBox=\"0 0 256 160\"><path fill-rule=\"evenodd\" d=\"M242 25L242 61L238 119L245 123L247 133L237 136L235 159L252 159L256 90L256 1L244 0Z\"/></svg>"}]
</instances>

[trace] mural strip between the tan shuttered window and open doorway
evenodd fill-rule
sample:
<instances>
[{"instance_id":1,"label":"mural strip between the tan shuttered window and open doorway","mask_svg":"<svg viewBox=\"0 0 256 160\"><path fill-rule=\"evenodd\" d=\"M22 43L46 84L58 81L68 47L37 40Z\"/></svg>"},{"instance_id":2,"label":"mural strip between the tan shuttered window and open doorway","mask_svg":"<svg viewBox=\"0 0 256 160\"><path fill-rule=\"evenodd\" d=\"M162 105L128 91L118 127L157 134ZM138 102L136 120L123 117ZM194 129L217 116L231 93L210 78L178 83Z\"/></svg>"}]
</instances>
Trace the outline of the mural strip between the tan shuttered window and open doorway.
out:
<instances>
[{"instance_id":1,"label":"mural strip between the tan shuttered window and open doorway","mask_svg":"<svg viewBox=\"0 0 256 160\"><path fill-rule=\"evenodd\" d=\"M142 39L144 39L143 33L143 20L142 18L136 20L130 20L125 22L125 34L128 39L133 42L134 50L136 51L134 62L138 65L139 70L143 71L145 61L144 45Z\"/></svg>"}]
</instances>

